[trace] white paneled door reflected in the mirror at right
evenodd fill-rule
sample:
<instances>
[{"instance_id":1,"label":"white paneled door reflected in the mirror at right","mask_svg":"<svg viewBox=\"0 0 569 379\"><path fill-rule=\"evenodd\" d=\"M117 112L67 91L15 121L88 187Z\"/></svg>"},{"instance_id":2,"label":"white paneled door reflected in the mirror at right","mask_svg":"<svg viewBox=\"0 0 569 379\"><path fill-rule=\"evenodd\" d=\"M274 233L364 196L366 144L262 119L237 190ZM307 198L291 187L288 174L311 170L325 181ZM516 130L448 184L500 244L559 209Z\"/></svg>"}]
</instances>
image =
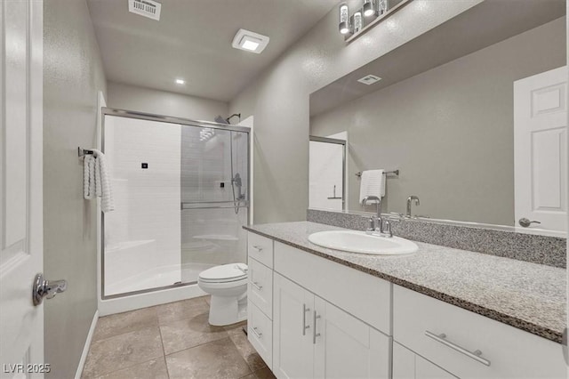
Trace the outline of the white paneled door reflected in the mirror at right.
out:
<instances>
[{"instance_id":1,"label":"white paneled door reflected in the mirror at right","mask_svg":"<svg viewBox=\"0 0 569 379\"><path fill-rule=\"evenodd\" d=\"M516 226L567 230L567 69L514 83ZM541 223L537 223L541 222Z\"/></svg>"}]
</instances>

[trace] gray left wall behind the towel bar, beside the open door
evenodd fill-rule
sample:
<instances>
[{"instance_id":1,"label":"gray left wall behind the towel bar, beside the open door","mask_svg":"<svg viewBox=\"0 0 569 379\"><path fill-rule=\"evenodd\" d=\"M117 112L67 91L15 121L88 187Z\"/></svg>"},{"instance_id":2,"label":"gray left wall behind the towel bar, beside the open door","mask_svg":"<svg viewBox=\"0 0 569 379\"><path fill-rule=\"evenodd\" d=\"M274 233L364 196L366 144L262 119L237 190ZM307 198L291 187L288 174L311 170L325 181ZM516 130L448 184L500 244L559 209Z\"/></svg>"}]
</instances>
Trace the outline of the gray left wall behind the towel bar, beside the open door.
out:
<instances>
[{"instance_id":1,"label":"gray left wall behind the towel bar, beside the open door","mask_svg":"<svg viewBox=\"0 0 569 379\"><path fill-rule=\"evenodd\" d=\"M46 377L75 376L97 310L96 208L77 146L95 146L99 47L84 0L44 2L44 273L68 280L45 304Z\"/></svg>"}]
</instances>

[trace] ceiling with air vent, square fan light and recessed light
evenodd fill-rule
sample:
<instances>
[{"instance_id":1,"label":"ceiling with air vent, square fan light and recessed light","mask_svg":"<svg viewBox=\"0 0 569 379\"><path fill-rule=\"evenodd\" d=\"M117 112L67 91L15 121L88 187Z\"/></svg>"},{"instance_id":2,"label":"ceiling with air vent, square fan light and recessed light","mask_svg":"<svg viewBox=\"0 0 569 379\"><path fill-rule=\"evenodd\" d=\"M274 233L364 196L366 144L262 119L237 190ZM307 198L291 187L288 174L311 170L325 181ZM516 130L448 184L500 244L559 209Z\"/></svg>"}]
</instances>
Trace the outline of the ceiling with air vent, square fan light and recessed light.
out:
<instances>
[{"instance_id":1,"label":"ceiling with air vent, square fan light and recessed light","mask_svg":"<svg viewBox=\"0 0 569 379\"><path fill-rule=\"evenodd\" d=\"M337 0L162 0L160 21L127 0L88 0L108 81L230 101ZM231 47L239 28L270 37L260 54ZM331 30L334 33L335 30ZM176 78L186 80L176 85Z\"/></svg>"}]
</instances>

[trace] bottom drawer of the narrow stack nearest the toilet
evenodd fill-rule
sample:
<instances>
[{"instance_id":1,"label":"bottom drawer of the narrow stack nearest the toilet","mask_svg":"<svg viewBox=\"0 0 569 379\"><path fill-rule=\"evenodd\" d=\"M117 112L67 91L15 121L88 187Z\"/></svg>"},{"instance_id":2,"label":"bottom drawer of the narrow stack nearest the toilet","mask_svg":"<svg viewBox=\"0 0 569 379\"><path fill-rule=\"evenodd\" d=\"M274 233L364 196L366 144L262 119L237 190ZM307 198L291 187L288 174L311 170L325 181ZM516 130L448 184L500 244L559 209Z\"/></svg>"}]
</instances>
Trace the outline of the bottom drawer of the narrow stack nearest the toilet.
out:
<instances>
[{"instance_id":1,"label":"bottom drawer of the narrow stack nearest the toilet","mask_svg":"<svg viewBox=\"0 0 569 379\"><path fill-rule=\"evenodd\" d=\"M267 367L273 368L273 323L253 302L247 304L247 337Z\"/></svg>"}]
</instances>

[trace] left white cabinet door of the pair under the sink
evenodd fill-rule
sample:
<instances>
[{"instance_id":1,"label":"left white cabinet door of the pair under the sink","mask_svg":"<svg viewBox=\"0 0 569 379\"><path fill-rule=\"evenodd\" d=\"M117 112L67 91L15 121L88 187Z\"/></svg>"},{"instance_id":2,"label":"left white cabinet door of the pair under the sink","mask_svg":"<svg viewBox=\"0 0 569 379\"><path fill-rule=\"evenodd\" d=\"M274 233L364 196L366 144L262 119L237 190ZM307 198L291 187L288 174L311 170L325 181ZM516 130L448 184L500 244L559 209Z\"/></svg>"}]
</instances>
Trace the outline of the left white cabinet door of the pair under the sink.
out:
<instances>
[{"instance_id":1,"label":"left white cabinet door of the pair under the sink","mask_svg":"<svg viewBox=\"0 0 569 379\"><path fill-rule=\"evenodd\" d=\"M273 373L279 379L311 378L314 294L277 273L274 278Z\"/></svg>"}]
</instances>

